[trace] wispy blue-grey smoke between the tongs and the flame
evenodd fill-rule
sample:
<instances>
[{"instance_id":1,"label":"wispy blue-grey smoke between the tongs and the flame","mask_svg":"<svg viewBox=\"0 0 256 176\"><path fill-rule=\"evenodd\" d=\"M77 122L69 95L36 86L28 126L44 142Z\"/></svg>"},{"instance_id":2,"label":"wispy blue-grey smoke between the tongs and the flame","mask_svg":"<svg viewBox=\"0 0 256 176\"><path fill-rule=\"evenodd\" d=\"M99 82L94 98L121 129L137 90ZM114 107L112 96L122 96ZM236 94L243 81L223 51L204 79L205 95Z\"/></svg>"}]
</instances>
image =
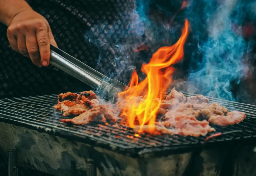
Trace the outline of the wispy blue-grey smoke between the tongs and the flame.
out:
<instances>
[{"instance_id":1,"label":"wispy blue-grey smoke between the tongs and the flame","mask_svg":"<svg viewBox=\"0 0 256 176\"><path fill-rule=\"evenodd\" d=\"M170 26L173 14L161 10L169 21L158 20L155 15L150 17L150 5L154 2L155 0L135 0L134 8L119 12L114 23L103 22L86 31L85 39L99 49L97 66L102 68L100 70L102 73L104 71L103 74L128 84L134 69L139 71L141 65L147 63L156 50L173 44L180 37L179 27L184 23ZM175 33L176 30L178 34ZM149 49L145 53L135 52L142 44ZM143 76L140 71L139 76Z\"/></svg>"}]
</instances>

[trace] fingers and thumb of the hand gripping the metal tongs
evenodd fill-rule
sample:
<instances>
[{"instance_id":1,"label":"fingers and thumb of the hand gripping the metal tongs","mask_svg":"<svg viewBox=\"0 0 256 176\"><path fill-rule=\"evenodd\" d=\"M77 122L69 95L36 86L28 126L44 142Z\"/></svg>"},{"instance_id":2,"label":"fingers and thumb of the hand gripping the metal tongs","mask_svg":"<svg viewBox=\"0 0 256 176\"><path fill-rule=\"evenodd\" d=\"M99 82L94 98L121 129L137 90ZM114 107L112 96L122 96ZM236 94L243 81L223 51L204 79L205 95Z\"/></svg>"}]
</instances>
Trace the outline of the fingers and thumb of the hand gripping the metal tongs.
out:
<instances>
[{"instance_id":1,"label":"fingers and thumb of the hand gripping the metal tongs","mask_svg":"<svg viewBox=\"0 0 256 176\"><path fill-rule=\"evenodd\" d=\"M49 24L44 20L37 21L34 26L11 26L7 29L7 37L14 51L30 57L39 67L50 63L50 44L58 47Z\"/></svg>"}]
</instances>

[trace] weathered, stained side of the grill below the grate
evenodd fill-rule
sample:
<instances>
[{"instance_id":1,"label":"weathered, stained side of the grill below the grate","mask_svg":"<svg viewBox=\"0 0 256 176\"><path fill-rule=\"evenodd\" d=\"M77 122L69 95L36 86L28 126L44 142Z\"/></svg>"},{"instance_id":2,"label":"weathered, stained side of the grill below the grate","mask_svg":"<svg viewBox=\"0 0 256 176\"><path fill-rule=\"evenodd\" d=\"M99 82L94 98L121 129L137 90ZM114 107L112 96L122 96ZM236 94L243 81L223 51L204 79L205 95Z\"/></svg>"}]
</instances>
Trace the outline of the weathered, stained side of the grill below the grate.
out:
<instances>
[{"instance_id":1,"label":"weathered, stained side of the grill below the grate","mask_svg":"<svg viewBox=\"0 0 256 176\"><path fill-rule=\"evenodd\" d=\"M49 129L50 130L50 129ZM13 124L0 123L0 148L18 150L18 164L58 176L86 175L94 161L98 176L255 176L254 145L225 145L190 153L133 158Z\"/></svg>"}]
</instances>

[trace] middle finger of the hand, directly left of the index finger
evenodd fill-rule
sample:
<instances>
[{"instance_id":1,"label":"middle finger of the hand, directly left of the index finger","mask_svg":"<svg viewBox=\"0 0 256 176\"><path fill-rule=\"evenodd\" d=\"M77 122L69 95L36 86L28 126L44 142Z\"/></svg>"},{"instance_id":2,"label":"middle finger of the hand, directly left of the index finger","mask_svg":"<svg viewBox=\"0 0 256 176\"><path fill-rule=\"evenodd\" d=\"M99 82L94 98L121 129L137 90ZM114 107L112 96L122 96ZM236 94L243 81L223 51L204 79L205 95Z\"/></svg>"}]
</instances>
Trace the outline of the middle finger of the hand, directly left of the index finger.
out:
<instances>
[{"instance_id":1,"label":"middle finger of the hand, directly left of the index finger","mask_svg":"<svg viewBox=\"0 0 256 176\"><path fill-rule=\"evenodd\" d=\"M36 40L36 33L29 33L26 36L26 46L28 50L28 54L30 59L32 60L33 64L38 67L42 67L42 62L40 60L40 52L39 47Z\"/></svg>"}]
</instances>

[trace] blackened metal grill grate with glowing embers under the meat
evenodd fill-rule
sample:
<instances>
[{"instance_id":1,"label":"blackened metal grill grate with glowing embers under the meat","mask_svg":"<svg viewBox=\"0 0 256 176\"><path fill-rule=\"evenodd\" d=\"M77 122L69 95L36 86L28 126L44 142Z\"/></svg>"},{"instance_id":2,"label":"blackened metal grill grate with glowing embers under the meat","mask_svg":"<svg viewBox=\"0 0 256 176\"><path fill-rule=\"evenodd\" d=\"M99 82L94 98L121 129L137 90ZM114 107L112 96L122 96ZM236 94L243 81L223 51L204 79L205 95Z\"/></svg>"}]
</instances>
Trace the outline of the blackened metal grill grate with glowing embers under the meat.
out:
<instances>
[{"instance_id":1,"label":"blackened metal grill grate with glowing embers under the meat","mask_svg":"<svg viewBox=\"0 0 256 176\"><path fill-rule=\"evenodd\" d=\"M185 96L191 96L183 92ZM256 137L256 106L237 103L217 98L209 98L211 102L217 102L229 110L239 110L246 113L246 119L240 124L220 127L211 124L216 132L208 133L207 136L192 137L180 135L158 135L150 136L142 134L135 136L132 129L119 124L88 124L84 126L60 123L64 118L57 112L53 105L57 103L58 95L45 95L36 97L21 97L0 100L0 121L17 124L27 128L34 128L54 135L76 138L85 143L104 146L112 150L128 152L130 155L143 154L154 151L171 150L176 152L185 151L204 144L206 137L218 132L227 133L218 138L213 138L207 144L223 141L235 141L252 139Z\"/></svg>"}]
</instances>

